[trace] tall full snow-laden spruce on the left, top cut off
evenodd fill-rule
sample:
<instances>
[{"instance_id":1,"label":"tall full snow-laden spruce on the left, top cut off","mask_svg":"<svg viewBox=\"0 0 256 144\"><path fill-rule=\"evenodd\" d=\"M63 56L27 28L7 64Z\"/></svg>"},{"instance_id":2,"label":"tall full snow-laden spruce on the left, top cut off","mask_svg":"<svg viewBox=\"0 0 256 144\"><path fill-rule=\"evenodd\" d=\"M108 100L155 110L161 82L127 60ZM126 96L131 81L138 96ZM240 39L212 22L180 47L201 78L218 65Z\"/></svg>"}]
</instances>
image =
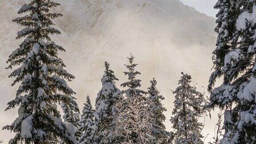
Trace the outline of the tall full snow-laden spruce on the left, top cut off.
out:
<instances>
[{"instance_id":1,"label":"tall full snow-laden spruce on the left, top cut off","mask_svg":"<svg viewBox=\"0 0 256 144\"><path fill-rule=\"evenodd\" d=\"M19 66L9 75L16 78L12 86L20 84L16 98L6 108L19 106L19 117L3 128L16 133L9 144L76 144L74 126L63 122L57 109L57 104L63 103L79 112L72 96L75 92L65 81L75 77L64 70L65 64L58 57L58 51L64 48L49 36L60 34L52 27L52 20L62 15L50 12L50 8L59 5L52 0L32 0L18 12L29 15L13 20L26 28L17 33L16 39L25 37L25 40L8 59L9 69Z\"/></svg>"}]
</instances>

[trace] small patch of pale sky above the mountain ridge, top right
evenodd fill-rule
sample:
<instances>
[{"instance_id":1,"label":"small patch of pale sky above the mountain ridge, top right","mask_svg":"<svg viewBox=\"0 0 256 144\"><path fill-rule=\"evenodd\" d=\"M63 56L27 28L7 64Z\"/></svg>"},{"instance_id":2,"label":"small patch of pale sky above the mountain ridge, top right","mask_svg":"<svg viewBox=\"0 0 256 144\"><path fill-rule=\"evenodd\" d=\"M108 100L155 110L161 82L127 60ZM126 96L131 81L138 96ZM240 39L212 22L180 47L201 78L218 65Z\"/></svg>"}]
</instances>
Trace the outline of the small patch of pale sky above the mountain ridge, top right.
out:
<instances>
[{"instance_id":1,"label":"small patch of pale sky above the mountain ridge, top right","mask_svg":"<svg viewBox=\"0 0 256 144\"><path fill-rule=\"evenodd\" d=\"M217 10L214 5L218 0L180 0L184 4L196 8L197 11L207 14L208 16L215 17Z\"/></svg>"}]
</instances>

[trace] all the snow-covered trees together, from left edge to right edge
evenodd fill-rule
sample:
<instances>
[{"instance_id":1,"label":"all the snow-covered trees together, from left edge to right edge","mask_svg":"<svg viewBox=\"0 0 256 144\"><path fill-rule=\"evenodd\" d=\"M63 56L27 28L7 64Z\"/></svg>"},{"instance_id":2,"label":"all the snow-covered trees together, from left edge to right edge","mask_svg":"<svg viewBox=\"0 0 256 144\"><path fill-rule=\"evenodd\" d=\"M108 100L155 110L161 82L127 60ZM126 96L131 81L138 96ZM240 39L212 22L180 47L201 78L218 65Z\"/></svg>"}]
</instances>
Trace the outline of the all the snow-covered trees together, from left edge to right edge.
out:
<instances>
[{"instance_id":1,"label":"all the snow-covered trees together, from left edge to right edge","mask_svg":"<svg viewBox=\"0 0 256 144\"><path fill-rule=\"evenodd\" d=\"M216 107L220 113L214 144L256 143L255 0L217 2L219 36L213 52L215 71L208 86L211 96L208 104L202 105L204 95L191 86L191 76L182 73L179 87L173 91L174 132L167 132L163 124L166 108L161 104L164 97L156 88L156 80L150 81L147 92L140 89L141 80L136 79L140 72L135 71L132 55L125 65L128 82L121 84L125 90L117 88L118 79L105 62L95 109L87 97L80 116L73 96L76 93L67 83L75 77L64 69L58 56L65 50L50 37L60 34L52 20L62 15L50 11L59 5L52 0L31 0L18 12L30 14L13 20L26 28L17 33L17 39L25 39L7 61L8 69L18 67L9 75L15 78L12 86L20 84L6 108L19 107L16 120L3 128L16 133L9 144L203 144L204 124L199 118L205 109ZM223 84L214 88L220 77ZM58 105L64 112L62 117Z\"/></svg>"}]
</instances>

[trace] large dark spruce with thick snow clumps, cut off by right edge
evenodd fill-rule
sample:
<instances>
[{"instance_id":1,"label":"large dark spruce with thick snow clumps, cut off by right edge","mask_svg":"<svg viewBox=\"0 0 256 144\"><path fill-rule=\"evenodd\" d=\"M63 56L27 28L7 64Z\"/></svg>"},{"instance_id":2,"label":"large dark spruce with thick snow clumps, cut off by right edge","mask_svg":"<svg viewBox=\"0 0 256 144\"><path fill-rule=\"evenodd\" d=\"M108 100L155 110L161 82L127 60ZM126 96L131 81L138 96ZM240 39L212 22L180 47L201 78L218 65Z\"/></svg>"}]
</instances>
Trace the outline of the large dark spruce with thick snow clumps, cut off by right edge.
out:
<instances>
[{"instance_id":1,"label":"large dark spruce with thick snow clumps, cut off by right edge","mask_svg":"<svg viewBox=\"0 0 256 144\"><path fill-rule=\"evenodd\" d=\"M210 108L224 112L222 143L256 143L256 0L219 0ZM214 88L216 79L222 84Z\"/></svg>"}]
</instances>

